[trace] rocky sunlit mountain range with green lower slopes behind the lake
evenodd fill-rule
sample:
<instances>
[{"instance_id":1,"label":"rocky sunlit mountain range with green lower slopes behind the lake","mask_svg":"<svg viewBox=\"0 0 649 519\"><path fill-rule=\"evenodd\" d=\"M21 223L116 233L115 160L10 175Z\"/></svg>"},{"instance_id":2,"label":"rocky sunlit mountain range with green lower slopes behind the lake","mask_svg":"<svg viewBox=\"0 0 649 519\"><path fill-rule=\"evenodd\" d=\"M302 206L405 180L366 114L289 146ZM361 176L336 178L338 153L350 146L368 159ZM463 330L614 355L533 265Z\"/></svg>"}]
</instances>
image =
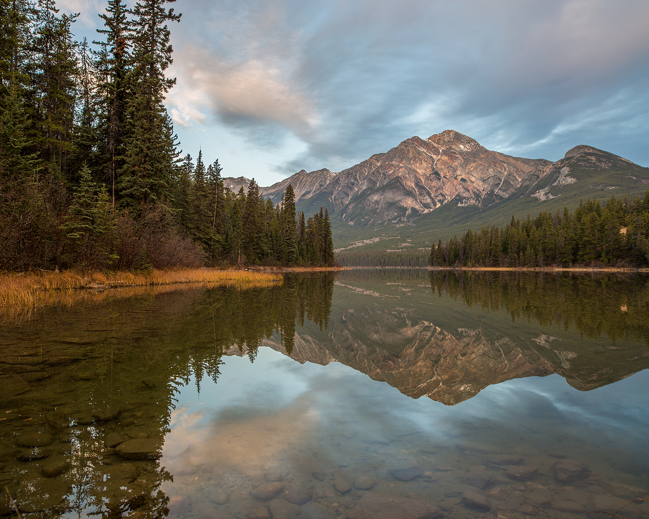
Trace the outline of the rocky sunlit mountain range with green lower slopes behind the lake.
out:
<instances>
[{"instance_id":1,"label":"rocky sunlit mountain range with green lower slopes behind the lake","mask_svg":"<svg viewBox=\"0 0 649 519\"><path fill-rule=\"evenodd\" d=\"M224 182L238 191L250 180ZM511 215L635 197L649 189L649 168L586 145L557 162L513 157L445 130L406 139L339 173L302 170L261 191L279 202L288 184L306 215L329 208L337 247L416 250L467 228L504 225Z\"/></svg>"}]
</instances>

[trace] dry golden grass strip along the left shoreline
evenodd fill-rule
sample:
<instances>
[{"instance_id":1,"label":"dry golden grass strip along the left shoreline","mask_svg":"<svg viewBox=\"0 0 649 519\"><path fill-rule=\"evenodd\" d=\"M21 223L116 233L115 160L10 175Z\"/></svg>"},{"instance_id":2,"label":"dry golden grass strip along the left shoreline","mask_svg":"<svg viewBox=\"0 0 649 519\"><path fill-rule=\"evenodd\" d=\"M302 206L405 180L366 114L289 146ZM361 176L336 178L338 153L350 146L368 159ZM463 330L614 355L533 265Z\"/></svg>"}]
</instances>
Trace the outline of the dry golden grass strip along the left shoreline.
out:
<instances>
[{"instance_id":1,"label":"dry golden grass strip along the left shoreline","mask_svg":"<svg viewBox=\"0 0 649 519\"><path fill-rule=\"evenodd\" d=\"M69 306L77 300L97 302L105 295L135 295L132 287L152 287L173 284L228 286L238 289L269 287L281 283L281 274L271 272L220 271L193 269L151 272L30 272L0 274L0 323L21 322L31 318L34 311L53 304ZM119 291L105 290L119 288ZM84 290L88 289L88 290ZM173 289L173 288L170 288ZM97 293L98 291L102 291ZM154 290L158 293L160 290Z\"/></svg>"}]
</instances>

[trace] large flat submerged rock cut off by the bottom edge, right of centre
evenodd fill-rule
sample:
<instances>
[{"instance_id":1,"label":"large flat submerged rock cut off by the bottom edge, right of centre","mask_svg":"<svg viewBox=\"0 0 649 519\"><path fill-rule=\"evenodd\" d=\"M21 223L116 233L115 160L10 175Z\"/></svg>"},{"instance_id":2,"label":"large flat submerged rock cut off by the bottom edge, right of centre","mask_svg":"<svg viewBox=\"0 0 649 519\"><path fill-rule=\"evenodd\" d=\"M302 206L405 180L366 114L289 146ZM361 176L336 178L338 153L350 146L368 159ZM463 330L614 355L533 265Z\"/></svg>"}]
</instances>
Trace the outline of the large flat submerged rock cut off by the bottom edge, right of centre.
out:
<instances>
[{"instance_id":1,"label":"large flat submerged rock cut off by the bottom edge, right of centre","mask_svg":"<svg viewBox=\"0 0 649 519\"><path fill-rule=\"evenodd\" d=\"M377 492L363 494L358 505L347 512L349 519L441 519L443 516L438 507Z\"/></svg>"}]
</instances>

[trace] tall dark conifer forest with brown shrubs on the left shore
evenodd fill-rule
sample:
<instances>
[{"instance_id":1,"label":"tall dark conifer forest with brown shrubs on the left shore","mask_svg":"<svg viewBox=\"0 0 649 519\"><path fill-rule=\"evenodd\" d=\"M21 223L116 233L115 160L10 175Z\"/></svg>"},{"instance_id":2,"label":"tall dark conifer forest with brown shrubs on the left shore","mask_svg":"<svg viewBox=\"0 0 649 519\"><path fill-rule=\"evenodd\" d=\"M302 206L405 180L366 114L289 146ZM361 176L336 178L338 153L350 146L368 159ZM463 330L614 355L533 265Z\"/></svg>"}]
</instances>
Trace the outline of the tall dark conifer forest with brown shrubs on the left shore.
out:
<instances>
[{"instance_id":1,"label":"tall dark conifer forest with brown shrubs on the left shore","mask_svg":"<svg viewBox=\"0 0 649 519\"><path fill-rule=\"evenodd\" d=\"M296 215L182 154L169 4L109 0L97 40L53 0L0 0L0 269L333 265L328 211Z\"/></svg>"}]
</instances>

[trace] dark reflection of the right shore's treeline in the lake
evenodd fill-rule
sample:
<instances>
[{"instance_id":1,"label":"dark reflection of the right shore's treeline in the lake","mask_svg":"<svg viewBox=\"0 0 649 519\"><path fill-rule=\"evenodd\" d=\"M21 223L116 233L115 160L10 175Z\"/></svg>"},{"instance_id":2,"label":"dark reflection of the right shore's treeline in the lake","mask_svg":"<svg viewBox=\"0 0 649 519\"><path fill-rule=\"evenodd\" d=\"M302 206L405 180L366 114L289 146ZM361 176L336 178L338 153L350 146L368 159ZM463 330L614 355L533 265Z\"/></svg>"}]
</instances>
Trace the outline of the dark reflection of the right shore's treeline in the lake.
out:
<instances>
[{"instance_id":1,"label":"dark reflection of the right shore's treeline in the lake","mask_svg":"<svg viewBox=\"0 0 649 519\"><path fill-rule=\"evenodd\" d=\"M649 281L646 276L536 272L430 272L430 289L471 308L506 311L512 321L574 326L587 339L649 345Z\"/></svg>"}]
</instances>

